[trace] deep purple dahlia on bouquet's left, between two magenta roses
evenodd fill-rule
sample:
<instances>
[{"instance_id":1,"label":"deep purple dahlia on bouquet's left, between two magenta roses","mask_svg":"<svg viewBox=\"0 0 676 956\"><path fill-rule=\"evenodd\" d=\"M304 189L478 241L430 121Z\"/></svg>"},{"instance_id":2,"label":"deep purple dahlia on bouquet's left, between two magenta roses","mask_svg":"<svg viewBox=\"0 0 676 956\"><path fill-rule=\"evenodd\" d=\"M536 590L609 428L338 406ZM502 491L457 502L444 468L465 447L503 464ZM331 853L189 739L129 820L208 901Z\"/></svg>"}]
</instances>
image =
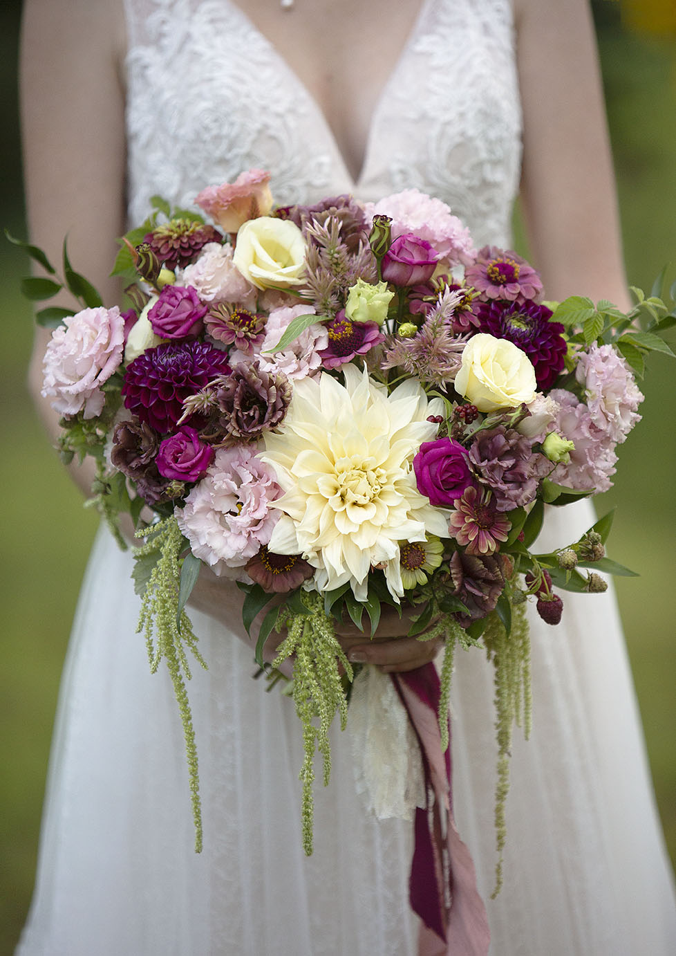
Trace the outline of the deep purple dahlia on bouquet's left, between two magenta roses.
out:
<instances>
[{"instance_id":1,"label":"deep purple dahlia on bouquet's left, between two magenta roses","mask_svg":"<svg viewBox=\"0 0 676 956\"><path fill-rule=\"evenodd\" d=\"M208 342L162 343L146 349L127 366L122 385L124 407L140 422L166 435L175 430L183 414L183 400L229 371L227 355Z\"/></svg>"}]
</instances>

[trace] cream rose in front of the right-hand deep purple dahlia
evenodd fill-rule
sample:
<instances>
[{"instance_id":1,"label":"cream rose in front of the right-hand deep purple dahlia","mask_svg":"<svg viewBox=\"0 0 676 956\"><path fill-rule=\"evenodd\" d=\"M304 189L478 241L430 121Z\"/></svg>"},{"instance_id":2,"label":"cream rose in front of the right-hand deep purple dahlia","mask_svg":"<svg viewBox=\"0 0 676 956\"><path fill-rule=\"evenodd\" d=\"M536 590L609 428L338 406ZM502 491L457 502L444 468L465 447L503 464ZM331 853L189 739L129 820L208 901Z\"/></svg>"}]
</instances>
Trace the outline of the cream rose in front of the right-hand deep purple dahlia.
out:
<instances>
[{"instance_id":1,"label":"cream rose in front of the right-hand deep purple dahlia","mask_svg":"<svg viewBox=\"0 0 676 956\"><path fill-rule=\"evenodd\" d=\"M493 412L533 402L538 384L530 359L514 342L482 332L465 346L454 387L480 412Z\"/></svg>"}]
</instances>

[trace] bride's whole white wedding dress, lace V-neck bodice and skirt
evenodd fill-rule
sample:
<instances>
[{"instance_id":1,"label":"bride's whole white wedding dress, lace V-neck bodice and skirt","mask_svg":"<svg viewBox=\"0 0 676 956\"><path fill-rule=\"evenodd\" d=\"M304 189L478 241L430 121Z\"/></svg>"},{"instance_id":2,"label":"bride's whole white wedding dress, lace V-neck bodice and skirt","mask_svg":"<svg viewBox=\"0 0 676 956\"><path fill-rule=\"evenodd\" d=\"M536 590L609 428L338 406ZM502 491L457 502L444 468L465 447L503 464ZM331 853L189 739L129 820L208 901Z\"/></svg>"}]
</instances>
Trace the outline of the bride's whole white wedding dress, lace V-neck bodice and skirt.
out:
<instances>
[{"instance_id":1,"label":"bride's whole white wedding dress, lace V-neck bodice and skirt","mask_svg":"<svg viewBox=\"0 0 676 956\"><path fill-rule=\"evenodd\" d=\"M250 166L279 204L408 186L439 196L475 243L508 244L520 113L509 0L425 0L350 179L317 104L229 0L128 0L129 214L190 204ZM302 15L299 9L298 15ZM560 544L588 527L553 513ZM572 527L572 526L575 527ZM189 684L204 851L193 852L180 720L168 675L135 635L131 558L101 532L64 674L41 855L21 956L413 954L411 824L376 821L333 735L301 846L300 727L251 680L253 653L193 616L208 672ZM487 901L495 956L670 956L676 909L613 597L564 596L534 616L534 731L516 733L505 885L496 863L492 672L454 674L454 805Z\"/></svg>"}]
</instances>

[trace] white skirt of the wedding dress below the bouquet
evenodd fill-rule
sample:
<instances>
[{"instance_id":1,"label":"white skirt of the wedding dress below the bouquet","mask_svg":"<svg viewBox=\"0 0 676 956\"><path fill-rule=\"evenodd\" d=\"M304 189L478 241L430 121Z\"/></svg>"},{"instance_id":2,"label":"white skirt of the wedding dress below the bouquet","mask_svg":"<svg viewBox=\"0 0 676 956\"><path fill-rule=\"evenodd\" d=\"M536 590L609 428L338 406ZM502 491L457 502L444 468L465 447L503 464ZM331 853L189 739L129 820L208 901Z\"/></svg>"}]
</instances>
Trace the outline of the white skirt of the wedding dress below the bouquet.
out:
<instances>
[{"instance_id":1,"label":"white skirt of the wedding dress below the bouquet","mask_svg":"<svg viewBox=\"0 0 676 956\"><path fill-rule=\"evenodd\" d=\"M580 530L591 523L576 506ZM570 509L565 525L570 535ZM574 512L575 514L575 512ZM550 532L562 540L556 525ZM196 855L177 706L135 634L131 559L100 532L63 678L40 862L20 956L413 956L411 824L377 821L333 733L300 834L300 725L251 680L253 651L194 615L208 671L188 684L200 755ZM454 806L496 956L667 956L676 906L622 633L610 595L532 622L534 730L517 730L496 901L492 670L456 654Z\"/></svg>"}]
</instances>

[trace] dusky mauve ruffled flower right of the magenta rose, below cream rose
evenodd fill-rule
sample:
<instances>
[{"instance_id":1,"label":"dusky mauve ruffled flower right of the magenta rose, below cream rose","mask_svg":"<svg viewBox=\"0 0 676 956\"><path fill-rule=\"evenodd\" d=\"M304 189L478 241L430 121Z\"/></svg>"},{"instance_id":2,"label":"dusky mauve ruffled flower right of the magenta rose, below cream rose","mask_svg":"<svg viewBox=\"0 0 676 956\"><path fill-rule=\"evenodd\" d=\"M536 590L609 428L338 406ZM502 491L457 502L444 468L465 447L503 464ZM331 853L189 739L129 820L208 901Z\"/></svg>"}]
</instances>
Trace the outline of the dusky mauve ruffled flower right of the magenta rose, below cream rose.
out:
<instances>
[{"instance_id":1,"label":"dusky mauve ruffled flower right of the magenta rose, below cream rose","mask_svg":"<svg viewBox=\"0 0 676 956\"><path fill-rule=\"evenodd\" d=\"M479 481L488 486L497 511L512 511L534 501L552 463L533 450L532 439L498 425L476 433L469 458Z\"/></svg>"}]
</instances>

